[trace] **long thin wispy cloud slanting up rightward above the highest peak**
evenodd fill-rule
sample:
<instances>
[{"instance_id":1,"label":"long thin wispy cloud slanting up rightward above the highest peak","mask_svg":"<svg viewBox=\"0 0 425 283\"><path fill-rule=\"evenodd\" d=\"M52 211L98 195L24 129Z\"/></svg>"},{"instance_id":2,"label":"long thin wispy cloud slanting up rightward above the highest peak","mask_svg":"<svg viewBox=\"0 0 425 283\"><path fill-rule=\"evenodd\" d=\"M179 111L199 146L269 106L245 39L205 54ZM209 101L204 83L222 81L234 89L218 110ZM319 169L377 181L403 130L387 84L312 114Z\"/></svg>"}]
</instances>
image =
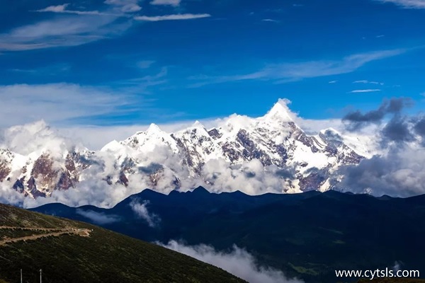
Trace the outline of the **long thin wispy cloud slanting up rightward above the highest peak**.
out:
<instances>
[{"instance_id":1,"label":"long thin wispy cloud slanting up rightward above the highest peak","mask_svg":"<svg viewBox=\"0 0 425 283\"><path fill-rule=\"evenodd\" d=\"M363 67L369 62L397 56L407 52L405 49L381 50L361 54L353 54L339 60L319 60L310 62L266 64L263 69L249 74L234 76L193 76L189 79L199 81L191 87L205 86L210 83L226 83L229 81L268 80L275 83L300 81L320 76L348 74Z\"/></svg>"}]
</instances>

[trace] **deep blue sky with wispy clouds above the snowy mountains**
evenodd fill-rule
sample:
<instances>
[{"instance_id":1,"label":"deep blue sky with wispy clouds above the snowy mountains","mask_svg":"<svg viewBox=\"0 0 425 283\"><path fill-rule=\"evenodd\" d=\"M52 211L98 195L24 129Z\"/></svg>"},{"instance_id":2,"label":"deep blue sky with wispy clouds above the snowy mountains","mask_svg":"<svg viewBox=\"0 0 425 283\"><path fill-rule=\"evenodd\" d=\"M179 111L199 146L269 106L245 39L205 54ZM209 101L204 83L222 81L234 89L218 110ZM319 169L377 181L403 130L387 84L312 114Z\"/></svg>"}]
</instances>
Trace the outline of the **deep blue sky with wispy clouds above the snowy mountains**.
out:
<instances>
[{"instance_id":1,"label":"deep blue sky with wispy clouds above the snowy mountains","mask_svg":"<svg viewBox=\"0 0 425 283\"><path fill-rule=\"evenodd\" d=\"M424 109L425 0L0 3L2 126Z\"/></svg>"}]
</instances>

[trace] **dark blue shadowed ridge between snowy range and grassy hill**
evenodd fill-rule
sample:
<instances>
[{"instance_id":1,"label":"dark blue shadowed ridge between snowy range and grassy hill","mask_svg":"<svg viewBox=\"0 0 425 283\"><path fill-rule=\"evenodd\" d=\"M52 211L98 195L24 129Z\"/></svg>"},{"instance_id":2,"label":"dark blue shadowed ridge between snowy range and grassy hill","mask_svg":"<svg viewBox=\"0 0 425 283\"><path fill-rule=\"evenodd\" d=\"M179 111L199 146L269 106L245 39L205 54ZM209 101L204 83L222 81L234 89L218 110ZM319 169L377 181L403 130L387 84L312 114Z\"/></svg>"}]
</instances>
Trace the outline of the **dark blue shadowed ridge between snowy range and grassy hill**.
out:
<instances>
[{"instance_id":1,"label":"dark blue shadowed ridge between snowy range and grassy hill","mask_svg":"<svg viewBox=\"0 0 425 283\"><path fill-rule=\"evenodd\" d=\"M137 207L145 214L137 214ZM309 283L336 282L334 270L385 269L395 262L408 270L425 267L425 196L335 191L249 196L199 187L169 195L144 190L113 209L47 204L37 211L91 221L145 241L182 239L189 246L204 243L224 251L237 245L262 265Z\"/></svg>"}]
</instances>

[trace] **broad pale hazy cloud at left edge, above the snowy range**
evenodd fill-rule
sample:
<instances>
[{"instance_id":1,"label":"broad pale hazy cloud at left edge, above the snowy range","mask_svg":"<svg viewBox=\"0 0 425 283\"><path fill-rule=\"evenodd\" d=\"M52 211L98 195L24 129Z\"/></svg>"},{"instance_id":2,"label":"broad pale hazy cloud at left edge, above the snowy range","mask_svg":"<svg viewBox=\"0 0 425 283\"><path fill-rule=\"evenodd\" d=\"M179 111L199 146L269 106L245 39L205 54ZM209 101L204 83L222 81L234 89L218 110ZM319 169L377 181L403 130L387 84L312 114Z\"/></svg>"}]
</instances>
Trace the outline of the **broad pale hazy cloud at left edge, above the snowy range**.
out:
<instances>
[{"instance_id":1,"label":"broad pale hazy cloud at left edge, above the snowy range","mask_svg":"<svg viewBox=\"0 0 425 283\"><path fill-rule=\"evenodd\" d=\"M0 86L0 127L35 120L67 123L96 115L113 115L135 102L135 96L69 83ZM141 98L137 98L142 103ZM13 107L11 107L13 105ZM16 110L19 112L16 112Z\"/></svg>"}]
</instances>

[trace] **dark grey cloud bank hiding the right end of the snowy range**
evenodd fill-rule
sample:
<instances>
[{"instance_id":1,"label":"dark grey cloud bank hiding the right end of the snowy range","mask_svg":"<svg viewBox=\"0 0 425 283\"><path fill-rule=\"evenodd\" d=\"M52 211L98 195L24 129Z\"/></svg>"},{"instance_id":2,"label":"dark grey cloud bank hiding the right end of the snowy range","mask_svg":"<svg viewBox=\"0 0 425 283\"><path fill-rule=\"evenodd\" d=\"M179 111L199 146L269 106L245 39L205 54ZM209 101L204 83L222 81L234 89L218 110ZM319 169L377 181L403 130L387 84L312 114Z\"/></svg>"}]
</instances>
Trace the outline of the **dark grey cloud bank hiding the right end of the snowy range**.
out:
<instances>
[{"instance_id":1,"label":"dark grey cloud bank hiding the right end of the snowy range","mask_svg":"<svg viewBox=\"0 0 425 283\"><path fill-rule=\"evenodd\" d=\"M349 117L348 129L359 129L370 123L380 123L386 115L392 115L378 140L385 154L363 159L358 166L346 166L338 171L343 180L336 187L356 193L409 197L425 194L425 117L407 117L401 114L412 105L409 98L393 98L380 105L378 110L365 114L356 111Z\"/></svg>"}]
</instances>

